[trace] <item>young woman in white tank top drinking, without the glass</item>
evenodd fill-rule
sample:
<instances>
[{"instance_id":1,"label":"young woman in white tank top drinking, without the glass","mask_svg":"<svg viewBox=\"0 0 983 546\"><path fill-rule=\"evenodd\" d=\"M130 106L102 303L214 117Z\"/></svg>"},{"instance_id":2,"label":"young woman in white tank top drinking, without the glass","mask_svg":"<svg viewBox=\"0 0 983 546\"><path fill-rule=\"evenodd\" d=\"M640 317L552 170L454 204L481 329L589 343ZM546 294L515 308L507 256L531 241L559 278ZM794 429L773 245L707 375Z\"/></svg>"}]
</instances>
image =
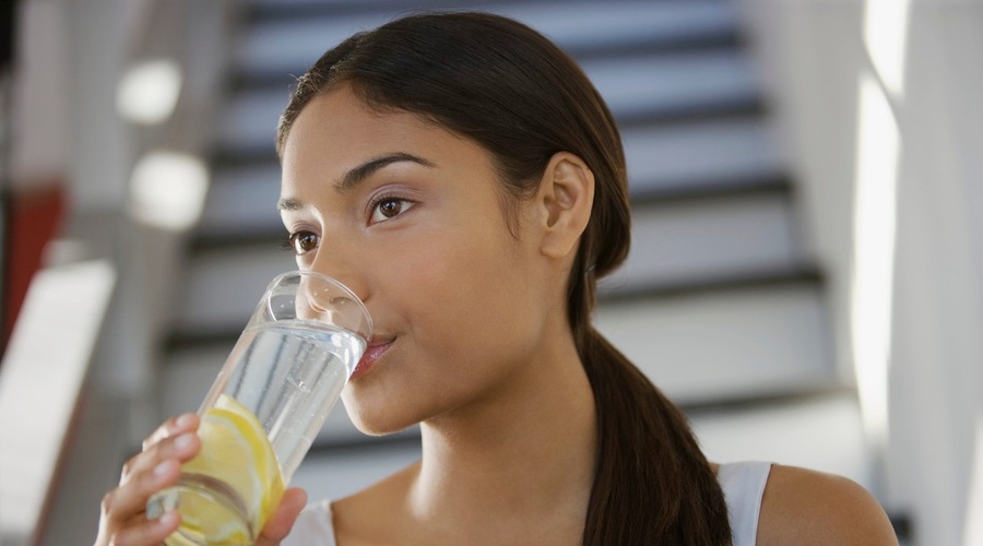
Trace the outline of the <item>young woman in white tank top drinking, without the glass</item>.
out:
<instances>
[{"instance_id":1,"label":"young woman in white tank top drinking, without the glass","mask_svg":"<svg viewBox=\"0 0 983 546\"><path fill-rule=\"evenodd\" d=\"M258 544L896 544L849 480L709 463L591 327L596 280L628 252L625 158L602 98L540 34L457 13L355 35L300 79L277 152L298 265L347 284L377 325L345 406L367 434L419 423L423 459L299 518L288 490ZM99 544L177 527L142 508L197 426L166 423L128 463Z\"/></svg>"}]
</instances>

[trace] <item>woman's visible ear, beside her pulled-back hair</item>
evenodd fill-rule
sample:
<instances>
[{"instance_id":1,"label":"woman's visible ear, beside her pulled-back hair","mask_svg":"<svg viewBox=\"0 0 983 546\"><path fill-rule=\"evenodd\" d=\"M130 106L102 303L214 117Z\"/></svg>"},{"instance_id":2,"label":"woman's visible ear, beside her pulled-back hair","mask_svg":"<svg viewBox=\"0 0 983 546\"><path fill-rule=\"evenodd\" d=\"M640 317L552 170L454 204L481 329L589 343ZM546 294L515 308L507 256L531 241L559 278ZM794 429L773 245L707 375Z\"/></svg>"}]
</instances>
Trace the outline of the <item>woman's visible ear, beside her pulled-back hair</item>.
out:
<instances>
[{"instance_id":1,"label":"woman's visible ear, beside her pulled-back hair","mask_svg":"<svg viewBox=\"0 0 983 546\"><path fill-rule=\"evenodd\" d=\"M577 251L594 204L594 174L577 155L558 152L549 158L536 192L542 229L541 251L562 258Z\"/></svg>"}]
</instances>

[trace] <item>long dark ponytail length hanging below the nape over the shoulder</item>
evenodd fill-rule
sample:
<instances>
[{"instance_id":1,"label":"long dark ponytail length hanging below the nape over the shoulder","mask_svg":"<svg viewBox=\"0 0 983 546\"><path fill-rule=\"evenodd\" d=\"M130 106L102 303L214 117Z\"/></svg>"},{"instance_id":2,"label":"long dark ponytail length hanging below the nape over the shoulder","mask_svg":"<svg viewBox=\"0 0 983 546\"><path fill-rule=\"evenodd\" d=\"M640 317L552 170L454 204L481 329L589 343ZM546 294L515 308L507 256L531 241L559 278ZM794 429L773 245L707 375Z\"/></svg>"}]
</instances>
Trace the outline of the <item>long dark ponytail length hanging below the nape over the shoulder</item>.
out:
<instances>
[{"instance_id":1,"label":"long dark ponytail length hanging below the nape over the shoulder","mask_svg":"<svg viewBox=\"0 0 983 546\"><path fill-rule=\"evenodd\" d=\"M599 422L583 545L730 545L726 503L683 412L594 329L580 356Z\"/></svg>"}]
</instances>

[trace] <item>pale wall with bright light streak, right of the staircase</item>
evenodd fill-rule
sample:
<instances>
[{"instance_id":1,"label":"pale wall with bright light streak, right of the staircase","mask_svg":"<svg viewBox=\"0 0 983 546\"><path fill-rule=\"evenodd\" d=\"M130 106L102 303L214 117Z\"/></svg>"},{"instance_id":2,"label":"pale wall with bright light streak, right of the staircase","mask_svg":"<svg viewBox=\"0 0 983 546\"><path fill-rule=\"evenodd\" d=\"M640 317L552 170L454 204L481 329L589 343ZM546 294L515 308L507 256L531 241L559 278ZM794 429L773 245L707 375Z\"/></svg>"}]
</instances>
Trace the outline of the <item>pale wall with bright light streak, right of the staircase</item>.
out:
<instances>
[{"instance_id":1,"label":"pale wall with bright light streak, right of the staircase","mask_svg":"<svg viewBox=\"0 0 983 546\"><path fill-rule=\"evenodd\" d=\"M917 544L980 544L983 2L742 8L881 456L875 492Z\"/></svg>"}]
</instances>

